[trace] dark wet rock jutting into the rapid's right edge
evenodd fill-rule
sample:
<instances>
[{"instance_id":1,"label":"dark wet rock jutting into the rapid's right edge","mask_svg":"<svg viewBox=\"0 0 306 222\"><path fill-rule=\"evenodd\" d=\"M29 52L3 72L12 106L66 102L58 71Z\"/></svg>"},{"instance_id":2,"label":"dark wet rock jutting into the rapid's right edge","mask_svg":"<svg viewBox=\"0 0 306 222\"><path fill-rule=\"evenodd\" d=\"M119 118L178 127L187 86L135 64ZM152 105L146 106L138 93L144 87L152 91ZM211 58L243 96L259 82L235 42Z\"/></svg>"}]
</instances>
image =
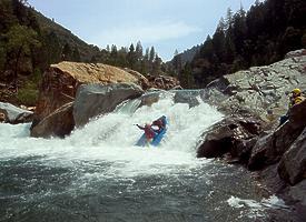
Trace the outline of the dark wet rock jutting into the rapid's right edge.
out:
<instances>
[{"instance_id":1,"label":"dark wet rock jutting into the rapid's right edge","mask_svg":"<svg viewBox=\"0 0 306 222\"><path fill-rule=\"evenodd\" d=\"M261 122L250 117L233 115L213 125L199 144L198 158L218 158L229 153L238 162L248 160L260 132Z\"/></svg>"}]
</instances>

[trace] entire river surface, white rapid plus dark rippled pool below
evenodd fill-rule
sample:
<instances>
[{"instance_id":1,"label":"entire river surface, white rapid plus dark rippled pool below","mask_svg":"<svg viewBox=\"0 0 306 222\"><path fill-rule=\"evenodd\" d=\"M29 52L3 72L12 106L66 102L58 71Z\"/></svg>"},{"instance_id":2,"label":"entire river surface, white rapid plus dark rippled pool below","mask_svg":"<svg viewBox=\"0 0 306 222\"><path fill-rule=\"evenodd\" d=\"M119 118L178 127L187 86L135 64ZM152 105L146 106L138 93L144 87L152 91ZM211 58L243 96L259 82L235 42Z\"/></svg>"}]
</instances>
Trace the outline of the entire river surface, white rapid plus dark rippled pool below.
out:
<instances>
[{"instance_id":1,"label":"entire river surface, white rapid plus dark rippled pool below","mask_svg":"<svg viewBox=\"0 0 306 222\"><path fill-rule=\"evenodd\" d=\"M165 95L129 102L65 140L0 124L0 221L265 221L279 200L260 198L243 168L196 159L200 134L223 115ZM134 112L135 111L135 112ZM134 144L136 123L165 114L158 148Z\"/></svg>"}]
</instances>

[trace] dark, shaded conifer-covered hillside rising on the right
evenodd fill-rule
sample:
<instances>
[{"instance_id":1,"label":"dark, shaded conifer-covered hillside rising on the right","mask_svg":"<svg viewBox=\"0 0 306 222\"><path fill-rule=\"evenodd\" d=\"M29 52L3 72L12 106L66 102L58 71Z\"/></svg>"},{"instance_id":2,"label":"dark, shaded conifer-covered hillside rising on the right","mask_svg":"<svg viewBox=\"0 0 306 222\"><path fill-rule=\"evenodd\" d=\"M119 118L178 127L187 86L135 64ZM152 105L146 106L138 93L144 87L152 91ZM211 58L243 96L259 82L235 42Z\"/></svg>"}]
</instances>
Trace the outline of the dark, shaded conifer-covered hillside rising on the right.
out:
<instances>
[{"instance_id":1,"label":"dark, shaded conifer-covered hillside rising on the right","mask_svg":"<svg viewBox=\"0 0 306 222\"><path fill-rule=\"evenodd\" d=\"M254 65L269 64L292 50L306 47L306 1L256 1L227 11L213 37L208 36L191 62L174 58L172 73L178 73L186 88L203 88L224 74Z\"/></svg>"}]
</instances>

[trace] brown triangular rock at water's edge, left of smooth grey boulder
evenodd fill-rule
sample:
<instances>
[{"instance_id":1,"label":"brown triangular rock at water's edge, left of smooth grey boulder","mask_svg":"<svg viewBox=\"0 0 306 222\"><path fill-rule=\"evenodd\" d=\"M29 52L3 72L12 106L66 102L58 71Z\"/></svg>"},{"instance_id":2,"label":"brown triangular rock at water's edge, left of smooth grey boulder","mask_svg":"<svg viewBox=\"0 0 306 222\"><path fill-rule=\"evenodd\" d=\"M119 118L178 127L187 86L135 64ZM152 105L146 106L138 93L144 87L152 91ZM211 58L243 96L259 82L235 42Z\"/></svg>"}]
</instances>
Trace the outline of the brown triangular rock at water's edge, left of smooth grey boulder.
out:
<instances>
[{"instance_id":1,"label":"brown triangular rock at water's edge, left of smooth grey boulder","mask_svg":"<svg viewBox=\"0 0 306 222\"><path fill-rule=\"evenodd\" d=\"M40 121L31 130L31 137L50 138L70 134L75 128L73 102L67 103Z\"/></svg>"}]
</instances>

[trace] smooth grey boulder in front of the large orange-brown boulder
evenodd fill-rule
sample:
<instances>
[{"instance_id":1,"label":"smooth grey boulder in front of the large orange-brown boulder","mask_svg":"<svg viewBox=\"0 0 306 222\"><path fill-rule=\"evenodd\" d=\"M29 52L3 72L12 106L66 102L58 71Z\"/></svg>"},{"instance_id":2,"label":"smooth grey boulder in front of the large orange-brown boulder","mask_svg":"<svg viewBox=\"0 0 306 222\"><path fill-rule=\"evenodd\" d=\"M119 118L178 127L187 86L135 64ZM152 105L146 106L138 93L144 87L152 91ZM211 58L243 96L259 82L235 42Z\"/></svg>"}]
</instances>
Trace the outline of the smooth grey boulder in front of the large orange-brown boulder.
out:
<instances>
[{"instance_id":1,"label":"smooth grey boulder in front of the large orange-brown boulder","mask_svg":"<svg viewBox=\"0 0 306 222\"><path fill-rule=\"evenodd\" d=\"M111 112L122 101L138 98L142 93L142 89L132 83L81 85L73 107L76 127L82 127L90 118Z\"/></svg>"}]
</instances>

